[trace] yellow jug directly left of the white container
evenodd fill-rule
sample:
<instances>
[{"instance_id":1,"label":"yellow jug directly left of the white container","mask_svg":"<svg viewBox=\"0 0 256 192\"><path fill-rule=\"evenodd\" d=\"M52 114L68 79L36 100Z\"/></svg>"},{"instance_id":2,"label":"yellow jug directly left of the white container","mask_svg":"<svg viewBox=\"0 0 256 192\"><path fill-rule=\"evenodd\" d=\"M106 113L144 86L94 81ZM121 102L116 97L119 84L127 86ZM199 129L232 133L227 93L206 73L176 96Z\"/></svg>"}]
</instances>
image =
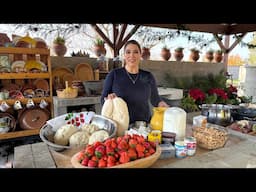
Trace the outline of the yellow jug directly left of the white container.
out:
<instances>
[{"instance_id":1,"label":"yellow jug directly left of the white container","mask_svg":"<svg viewBox=\"0 0 256 192\"><path fill-rule=\"evenodd\" d=\"M152 130L163 130L163 119L164 119L164 112L167 108L166 107L154 107L153 108L153 116L150 120L150 126Z\"/></svg>"}]
</instances>

